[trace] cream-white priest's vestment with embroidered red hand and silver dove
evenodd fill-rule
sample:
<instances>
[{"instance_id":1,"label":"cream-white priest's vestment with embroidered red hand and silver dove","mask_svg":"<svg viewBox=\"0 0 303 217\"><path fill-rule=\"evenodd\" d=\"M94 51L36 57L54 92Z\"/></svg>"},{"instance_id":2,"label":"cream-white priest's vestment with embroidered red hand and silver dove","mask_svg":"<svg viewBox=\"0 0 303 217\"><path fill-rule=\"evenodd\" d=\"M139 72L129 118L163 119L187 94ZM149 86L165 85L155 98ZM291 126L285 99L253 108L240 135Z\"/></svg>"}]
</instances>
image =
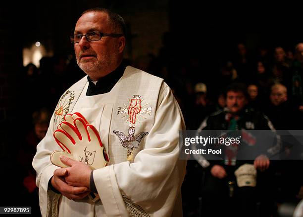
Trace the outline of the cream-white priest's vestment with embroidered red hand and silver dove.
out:
<instances>
[{"instance_id":1,"label":"cream-white priest's vestment with embroidered red hand and silver dove","mask_svg":"<svg viewBox=\"0 0 303 217\"><path fill-rule=\"evenodd\" d=\"M171 89L162 79L130 66L108 93L87 96L88 85L85 77L62 95L48 132L37 146L33 166L42 216L57 212L59 217L182 216L180 187L186 161L179 160L178 133L185 125ZM129 111L134 105L140 113L131 121ZM64 114L74 112L99 130L110 160L109 166L94 171L101 198L96 203L88 197L69 200L48 190L58 168L50 163L50 154L60 150L52 134ZM140 137L139 147L129 152L117 132L128 136L131 125L134 136L146 134Z\"/></svg>"}]
</instances>

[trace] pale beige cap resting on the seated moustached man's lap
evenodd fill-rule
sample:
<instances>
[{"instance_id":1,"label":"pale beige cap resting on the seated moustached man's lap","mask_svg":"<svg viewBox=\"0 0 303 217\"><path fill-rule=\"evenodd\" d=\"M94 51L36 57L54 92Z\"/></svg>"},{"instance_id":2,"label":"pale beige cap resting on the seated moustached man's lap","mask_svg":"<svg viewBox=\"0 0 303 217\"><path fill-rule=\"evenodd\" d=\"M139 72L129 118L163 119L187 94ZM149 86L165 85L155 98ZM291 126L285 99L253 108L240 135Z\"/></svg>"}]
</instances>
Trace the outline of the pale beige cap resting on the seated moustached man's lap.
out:
<instances>
[{"instance_id":1,"label":"pale beige cap resting on the seated moustached man's lap","mask_svg":"<svg viewBox=\"0 0 303 217\"><path fill-rule=\"evenodd\" d=\"M256 185L257 171L252 164L244 164L235 171L239 187Z\"/></svg>"}]
</instances>

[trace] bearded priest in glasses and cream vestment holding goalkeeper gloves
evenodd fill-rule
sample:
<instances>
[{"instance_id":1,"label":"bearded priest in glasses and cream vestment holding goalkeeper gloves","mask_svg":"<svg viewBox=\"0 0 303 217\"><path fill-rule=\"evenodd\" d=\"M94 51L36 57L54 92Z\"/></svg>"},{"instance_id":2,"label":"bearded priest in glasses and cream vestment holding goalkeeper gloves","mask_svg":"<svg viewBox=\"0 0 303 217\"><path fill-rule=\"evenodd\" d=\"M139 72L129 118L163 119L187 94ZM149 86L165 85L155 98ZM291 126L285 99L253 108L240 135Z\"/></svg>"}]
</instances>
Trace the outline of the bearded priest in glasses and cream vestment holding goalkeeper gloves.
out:
<instances>
[{"instance_id":1,"label":"bearded priest in glasses and cream vestment holding goalkeeper gloves","mask_svg":"<svg viewBox=\"0 0 303 217\"><path fill-rule=\"evenodd\" d=\"M178 160L178 131L185 126L171 89L123 61L125 23L108 9L84 11L71 43L88 76L62 95L37 146L33 166L42 216L182 216L186 162ZM87 149L85 161L57 156L67 168L52 165L52 153L60 147L66 156L78 143L89 146L83 144L90 142L83 129L95 129L95 138L100 134L107 166L92 170L88 155L94 151ZM53 135L60 132L73 143L70 149L61 140L60 147L56 144Z\"/></svg>"}]
</instances>

